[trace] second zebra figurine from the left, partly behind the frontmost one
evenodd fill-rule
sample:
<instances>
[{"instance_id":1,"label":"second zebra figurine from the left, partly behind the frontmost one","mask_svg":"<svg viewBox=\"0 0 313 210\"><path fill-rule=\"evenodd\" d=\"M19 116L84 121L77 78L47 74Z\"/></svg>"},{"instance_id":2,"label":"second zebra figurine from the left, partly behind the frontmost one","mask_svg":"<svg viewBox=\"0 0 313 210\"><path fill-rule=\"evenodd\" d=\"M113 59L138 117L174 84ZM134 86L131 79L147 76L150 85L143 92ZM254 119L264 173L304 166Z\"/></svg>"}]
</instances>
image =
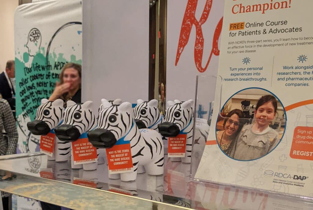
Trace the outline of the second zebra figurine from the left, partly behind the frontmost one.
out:
<instances>
[{"instance_id":1,"label":"second zebra figurine from the left, partly behind the frontmost one","mask_svg":"<svg viewBox=\"0 0 313 210\"><path fill-rule=\"evenodd\" d=\"M54 129L56 136L64 142L74 142L82 134L96 126L96 118L92 112L92 101L85 103L66 102L63 123ZM71 166L73 169L84 168L86 171L97 169L97 163L85 163L74 165L73 150L71 150Z\"/></svg>"}]
</instances>

